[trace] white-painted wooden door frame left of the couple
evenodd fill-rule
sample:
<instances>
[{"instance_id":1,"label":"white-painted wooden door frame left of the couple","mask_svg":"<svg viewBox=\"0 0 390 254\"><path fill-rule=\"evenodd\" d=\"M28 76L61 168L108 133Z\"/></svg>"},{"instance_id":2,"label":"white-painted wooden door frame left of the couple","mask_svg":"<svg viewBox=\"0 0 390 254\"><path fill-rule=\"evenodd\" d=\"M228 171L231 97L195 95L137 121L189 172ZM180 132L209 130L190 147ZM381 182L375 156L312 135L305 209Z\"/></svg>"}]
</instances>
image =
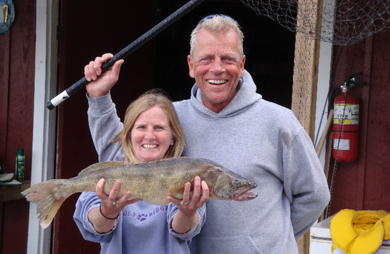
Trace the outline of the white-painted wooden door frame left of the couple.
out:
<instances>
[{"instance_id":1,"label":"white-painted wooden door frame left of the couple","mask_svg":"<svg viewBox=\"0 0 390 254\"><path fill-rule=\"evenodd\" d=\"M45 103L57 94L57 24L59 0L37 1L33 154L31 185L53 179L56 156L56 110ZM43 230L37 206L30 203L27 253L50 253L51 228Z\"/></svg>"}]
</instances>

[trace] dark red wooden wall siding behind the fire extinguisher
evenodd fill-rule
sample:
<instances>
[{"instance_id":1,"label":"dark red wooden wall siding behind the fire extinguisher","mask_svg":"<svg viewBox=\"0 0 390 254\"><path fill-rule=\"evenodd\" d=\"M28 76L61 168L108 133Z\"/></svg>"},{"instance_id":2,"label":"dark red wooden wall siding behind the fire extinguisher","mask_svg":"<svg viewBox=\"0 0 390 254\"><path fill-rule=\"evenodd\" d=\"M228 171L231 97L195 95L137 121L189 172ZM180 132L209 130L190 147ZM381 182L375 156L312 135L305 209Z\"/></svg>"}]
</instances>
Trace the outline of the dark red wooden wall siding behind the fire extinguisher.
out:
<instances>
[{"instance_id":1,"label":"dark red wooden wall siding behind the fire extinguisher","mask_svg":"<svg viewBox=\"0 0 390 254\"><path fill-rule=\"evenodd\" d=\"M356 72L352 94L360 98L358 159L337 163L331 212L341 209L390 212L390 31L379 32L355 45L344 46L336 69L335 84ZM333 65L341 46L334 47ZM331 160L329 182L332 177Z\"/></svg>"}]
</instances>

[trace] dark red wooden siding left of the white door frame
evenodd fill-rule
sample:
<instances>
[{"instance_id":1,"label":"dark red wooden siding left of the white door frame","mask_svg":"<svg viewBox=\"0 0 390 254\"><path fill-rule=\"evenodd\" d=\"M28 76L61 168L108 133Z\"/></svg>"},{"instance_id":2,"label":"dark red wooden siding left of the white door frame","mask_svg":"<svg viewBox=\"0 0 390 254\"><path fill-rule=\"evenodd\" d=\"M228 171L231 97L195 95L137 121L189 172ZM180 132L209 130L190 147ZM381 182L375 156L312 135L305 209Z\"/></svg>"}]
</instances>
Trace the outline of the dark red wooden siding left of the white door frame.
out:
<instances>
[{"instance_id":1,"label":"dark red wooden siding left of the white door frame","mask_svg":"<svg viewBox=\"0 0 390 254\"><path fill-rule=\"evenodd\" d=\"M25 148L31 177L36 1L14 0L15 20L0 35L0 160L15 171L16 148ZM0 200L0 253L26 253L29 203Z\"/></svg>"}]
</instances>

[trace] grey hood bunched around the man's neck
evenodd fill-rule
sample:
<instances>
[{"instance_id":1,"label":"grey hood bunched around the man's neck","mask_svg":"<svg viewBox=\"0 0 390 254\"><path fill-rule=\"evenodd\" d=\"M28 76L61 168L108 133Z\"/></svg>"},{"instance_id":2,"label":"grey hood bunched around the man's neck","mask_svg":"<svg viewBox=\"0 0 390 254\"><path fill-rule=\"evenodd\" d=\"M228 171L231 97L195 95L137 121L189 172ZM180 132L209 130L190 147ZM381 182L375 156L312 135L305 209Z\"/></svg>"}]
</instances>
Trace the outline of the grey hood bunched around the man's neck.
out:
<instances>
[{"instance_id":1,"label":"grey hood bunched around the man's neck","mask_svg":"<svg viewBox=\"0 0 390 254\"><path fill-rule=\"evenodd\" d=\"M195 83L191 89L191 104L195 107L196 111L204 117L231 117L248 109L262 98L260 94L256 93L256 85L254 84L252 76L245 69L244 76L239 79L236 89L237 94L229 105L222 109L221 112L215 113L204 106L201 91Z\"/></svg>"}]
</instances>

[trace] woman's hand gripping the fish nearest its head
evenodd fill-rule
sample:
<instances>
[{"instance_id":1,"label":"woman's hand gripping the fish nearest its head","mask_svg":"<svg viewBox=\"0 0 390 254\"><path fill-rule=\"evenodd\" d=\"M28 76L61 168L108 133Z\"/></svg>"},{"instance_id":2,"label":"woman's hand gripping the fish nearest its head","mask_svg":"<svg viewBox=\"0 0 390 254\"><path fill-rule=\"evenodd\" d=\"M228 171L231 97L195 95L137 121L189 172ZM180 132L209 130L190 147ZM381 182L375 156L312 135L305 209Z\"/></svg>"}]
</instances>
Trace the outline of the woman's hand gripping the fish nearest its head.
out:
<instances>
[{"instance_id":1,"label":"woman's hand gripping the fish nearest its head","mask_svg":"<svg viewBox=\"0 0 390 254\"><path fill-rule=\"evenodd\" d=\"M203 207L209 199L209 187L205 181L200 181L199 176L195 177L194 192L191 198L190 188L191 184L186 183L182 200L167 197L172 203L176 204L179 210L172 220L172 229L176 233L186 233L199 223L196 210Z\"/></svg>"}]
</instances>

